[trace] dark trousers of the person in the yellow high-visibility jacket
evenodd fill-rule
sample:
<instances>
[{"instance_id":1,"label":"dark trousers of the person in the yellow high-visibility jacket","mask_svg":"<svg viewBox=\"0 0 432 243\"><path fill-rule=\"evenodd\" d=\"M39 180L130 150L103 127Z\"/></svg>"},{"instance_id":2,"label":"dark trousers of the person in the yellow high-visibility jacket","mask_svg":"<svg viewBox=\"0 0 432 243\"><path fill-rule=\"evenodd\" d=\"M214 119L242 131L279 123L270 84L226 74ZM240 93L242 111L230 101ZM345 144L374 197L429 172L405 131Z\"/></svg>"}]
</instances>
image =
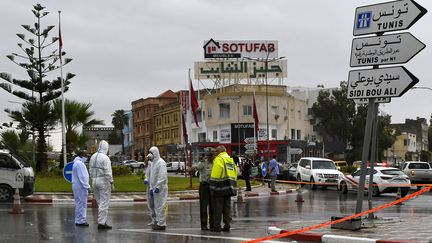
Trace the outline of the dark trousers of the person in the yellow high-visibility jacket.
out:
<instances>
[{"instance_id":1,"label":"dark trousers of the person in the yellow high-visibility jacket","mask_svg":"<svg viewBox=\"0 0 432 243\"><path fill-rule=\"evenodd\" d=\"M222 229L221 219L223 217L224 228L229 229L231 218L231 196L212 196L214 228Z\"/></svg>"}]
</instances>

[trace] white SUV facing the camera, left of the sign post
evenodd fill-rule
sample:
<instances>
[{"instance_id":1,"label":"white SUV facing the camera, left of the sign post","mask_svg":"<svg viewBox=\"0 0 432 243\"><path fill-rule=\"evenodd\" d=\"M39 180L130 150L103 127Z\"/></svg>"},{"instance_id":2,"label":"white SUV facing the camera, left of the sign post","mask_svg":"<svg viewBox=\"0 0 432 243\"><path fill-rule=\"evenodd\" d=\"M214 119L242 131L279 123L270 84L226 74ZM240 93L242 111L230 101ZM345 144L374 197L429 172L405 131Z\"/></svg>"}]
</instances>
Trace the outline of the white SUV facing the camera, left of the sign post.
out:
<instances>
[{"instance_id":1,"label":"white SUV facing the camera, left of the sign post","mask_svg":"<svg viewBox=\"0 0 432 243\"><path fill-rule=\"evenodd\" d=\"M317 184L323 187L337 186L338 180L343 176L336 169L333 160L324 158L301 158L297 165L297 180L311 183L311 189L316 189Z\"/></svg>"}]
</instances>

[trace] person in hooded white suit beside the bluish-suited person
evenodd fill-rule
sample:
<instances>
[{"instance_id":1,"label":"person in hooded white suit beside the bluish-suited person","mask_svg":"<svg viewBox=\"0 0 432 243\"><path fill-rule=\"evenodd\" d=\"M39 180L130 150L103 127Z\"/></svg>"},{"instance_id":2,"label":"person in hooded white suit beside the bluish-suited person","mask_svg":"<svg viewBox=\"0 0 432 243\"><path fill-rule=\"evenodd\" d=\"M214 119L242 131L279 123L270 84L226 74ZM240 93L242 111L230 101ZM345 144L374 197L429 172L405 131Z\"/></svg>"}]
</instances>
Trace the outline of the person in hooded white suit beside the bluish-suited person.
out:
<instances>
[{"instance_id":1,"label":"person in hooded white suit beside the bluish-suited person","mask_svg":"<svg viewBox=\"0 0 432 243\"><path fill-rule=\"evenodd\" d=\"M90 158L90 176L93 179L93 194L99 205L98 229L112 228L107 224L111 191L114 191L111 160L107 156L108 147L108 143L102 140L99 143L98 151Z\"/></svg>"}]
</instances>

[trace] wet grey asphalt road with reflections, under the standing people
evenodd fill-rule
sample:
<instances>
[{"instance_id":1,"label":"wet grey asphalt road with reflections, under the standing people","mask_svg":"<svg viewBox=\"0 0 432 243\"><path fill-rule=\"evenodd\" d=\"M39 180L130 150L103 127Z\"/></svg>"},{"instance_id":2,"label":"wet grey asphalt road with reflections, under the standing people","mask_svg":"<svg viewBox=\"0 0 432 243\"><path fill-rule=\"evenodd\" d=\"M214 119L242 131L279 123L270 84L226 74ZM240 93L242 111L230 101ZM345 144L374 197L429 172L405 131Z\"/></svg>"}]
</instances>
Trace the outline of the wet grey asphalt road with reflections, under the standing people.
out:
<instances>
[{"instance_id":1,"label":"wet grey asphalt road with reflections, under the standing people","mask_svg":"<svg viewBox=\"0 0 432 243\"><path fill-rule=\"evenodd\" d=\"M330 220L331 216L352 214L356 195L340 195L335 190L303 191L305 202L297 204L296 194L248 198L245 204L233 203L231 232L200 230L199 204L169 202L168 227L155 232L146 225L147 205L111 204L109 222L113 230L98 231L95 209L88 210L90 227L74 224L73 205L23 204L23 215L11 215L9 204L0 204L0 242L241 242L266 236L268 226L298 229ZM395 195L375 199L374 206L394 200ZM383 218L416 219L432 213L432 193L378 213ZM365 201L364 209L367 208ZM401 236L402 236L401 232ZM346 233L349 235L349 232ZM282 240L289 242L289 240Z\"/></svg>"}]
</instances>

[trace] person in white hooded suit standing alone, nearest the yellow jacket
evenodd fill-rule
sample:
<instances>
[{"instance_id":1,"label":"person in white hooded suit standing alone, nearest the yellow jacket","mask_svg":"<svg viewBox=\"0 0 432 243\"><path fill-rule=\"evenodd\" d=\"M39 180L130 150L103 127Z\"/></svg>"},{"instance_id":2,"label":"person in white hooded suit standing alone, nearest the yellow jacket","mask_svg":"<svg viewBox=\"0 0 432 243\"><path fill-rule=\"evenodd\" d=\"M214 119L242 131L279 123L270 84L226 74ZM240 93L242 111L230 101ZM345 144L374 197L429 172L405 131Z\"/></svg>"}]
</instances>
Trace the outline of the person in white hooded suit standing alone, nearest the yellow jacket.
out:
<instances>
[{"instance_id":1,"label":"person in white hooded suit standing alone, nearest the yellow jacket","mask_svg":"<svg viewBox=\"0 0 432 243\"><path fill-rule=\"evenodd\" d=\"M159 155L159 149L151 147L147 155L151 160L146 179L148 183L148 199L147 204L152 217L153 230L165 230L166 216L165 210L168 199L168 176L166 163ZM148 176L148 177L147 177ZM146 181L144 181L146 183Z\"/></svg>"}]
</instances>

